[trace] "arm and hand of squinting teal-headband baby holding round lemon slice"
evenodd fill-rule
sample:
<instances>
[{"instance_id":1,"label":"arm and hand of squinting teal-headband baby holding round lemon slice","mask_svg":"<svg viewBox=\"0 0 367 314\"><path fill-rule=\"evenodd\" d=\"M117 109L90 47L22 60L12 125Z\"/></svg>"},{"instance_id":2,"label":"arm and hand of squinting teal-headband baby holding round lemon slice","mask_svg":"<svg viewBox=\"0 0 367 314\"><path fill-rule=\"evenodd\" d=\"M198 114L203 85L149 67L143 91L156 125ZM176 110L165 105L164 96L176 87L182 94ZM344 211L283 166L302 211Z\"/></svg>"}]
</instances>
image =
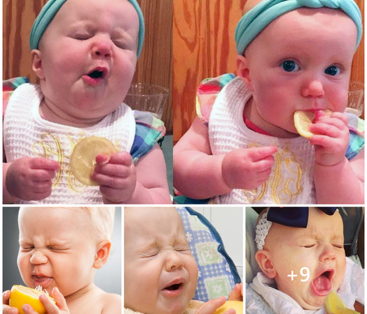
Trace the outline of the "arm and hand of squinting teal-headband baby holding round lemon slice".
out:
<instances>
[{"instance_id":1,"label":"arm and hand of squinting teal-headband baby holding round lemon slice","mask_svg":"<svg viewBox=\"0 0 367 314\"><path fill-rule=\"evenodd\" d=\"M158 145L134 165L130 154L119 152L107 161L97 156L91 179L100 184L110 204L170 204L165 159Z\"/></svg>"}]
</instances>

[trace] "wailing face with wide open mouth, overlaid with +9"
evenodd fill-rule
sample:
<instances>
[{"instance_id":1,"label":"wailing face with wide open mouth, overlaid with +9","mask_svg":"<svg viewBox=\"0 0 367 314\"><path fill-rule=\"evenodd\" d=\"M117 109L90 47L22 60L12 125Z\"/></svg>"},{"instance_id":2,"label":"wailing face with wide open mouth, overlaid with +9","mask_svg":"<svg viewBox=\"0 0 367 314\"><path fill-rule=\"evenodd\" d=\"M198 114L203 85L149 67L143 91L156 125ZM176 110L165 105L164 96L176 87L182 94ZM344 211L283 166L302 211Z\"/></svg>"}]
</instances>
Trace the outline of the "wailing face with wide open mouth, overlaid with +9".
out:
<instances>
[{"instance_id":1,"label":"wailing face with wide open mouth, overlaid with +9","mask_svg":"<svg viewBox=\"0 0 367 314\"><path fill-rule=\"evenodd\" d=\"M338 290L343 281L343 244L343 220L338 212L328 216L320 209L310 208L306 228L274 223L264 250L269 251L278 290L290 295L302 308L321 308L327 294ZM301 270L304 267L308 271ZM288 276L291 274L297 277Z\"/></svg>"}]
</instances>

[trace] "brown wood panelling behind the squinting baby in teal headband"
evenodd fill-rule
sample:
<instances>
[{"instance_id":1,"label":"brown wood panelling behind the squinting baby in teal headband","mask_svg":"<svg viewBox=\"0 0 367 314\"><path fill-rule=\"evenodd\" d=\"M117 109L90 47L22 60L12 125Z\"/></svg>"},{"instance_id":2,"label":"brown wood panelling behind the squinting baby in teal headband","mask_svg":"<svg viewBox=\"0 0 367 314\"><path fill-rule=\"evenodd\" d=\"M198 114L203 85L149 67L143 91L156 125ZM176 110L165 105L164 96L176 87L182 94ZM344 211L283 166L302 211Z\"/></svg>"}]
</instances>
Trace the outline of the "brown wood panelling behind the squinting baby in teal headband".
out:
<instances>
[{"instance_id":1,"label":"brown wood panelling behind the squinting baby in teal headband","mask_svg":"<svg viewBox=\"0 0 367 314\"><path fill-rule=\"evenodd\" d=\"M29 33L47 0L3 0L3 80L27 76L31 69ZM138 0L145 20L145 40L137 62L134 82L158 84L172 91L172 0ZM163 121L172 133L172 93Z\"/></svg>"}]
</instances>

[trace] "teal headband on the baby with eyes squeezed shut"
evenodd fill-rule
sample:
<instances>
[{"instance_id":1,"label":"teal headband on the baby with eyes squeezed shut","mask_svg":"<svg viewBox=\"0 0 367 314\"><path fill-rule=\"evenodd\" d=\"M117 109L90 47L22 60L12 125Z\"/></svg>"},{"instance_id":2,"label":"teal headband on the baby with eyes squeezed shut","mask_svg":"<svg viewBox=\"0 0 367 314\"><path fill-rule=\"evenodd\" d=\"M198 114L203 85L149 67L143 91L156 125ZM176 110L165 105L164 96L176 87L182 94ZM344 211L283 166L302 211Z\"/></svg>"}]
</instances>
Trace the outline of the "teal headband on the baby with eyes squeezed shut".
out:
<instances>
[{"instance_id":1,"label":"teal headband on the baby with eyes squeezed shut","mask_svg":"<svg viewBox=\"0 0 367 314\"><path fill-rule=\"evenodd\" d=\"M134 6L135 10L137 11L137 15L139 16L139 38L137 43L137 57L139 57L144 41L144 17L137 1L128 1ZM29 40L31 50L38 49L38 43L40 42L40 38L45 32L45 29L47 29L48 24L50 24L56 13L65 2L66 0L50 0L47 1L42 10L40 10L40 14L38 14L38 17L36 17L31 29L31 38Z\"/></svg>"}]
</instances>

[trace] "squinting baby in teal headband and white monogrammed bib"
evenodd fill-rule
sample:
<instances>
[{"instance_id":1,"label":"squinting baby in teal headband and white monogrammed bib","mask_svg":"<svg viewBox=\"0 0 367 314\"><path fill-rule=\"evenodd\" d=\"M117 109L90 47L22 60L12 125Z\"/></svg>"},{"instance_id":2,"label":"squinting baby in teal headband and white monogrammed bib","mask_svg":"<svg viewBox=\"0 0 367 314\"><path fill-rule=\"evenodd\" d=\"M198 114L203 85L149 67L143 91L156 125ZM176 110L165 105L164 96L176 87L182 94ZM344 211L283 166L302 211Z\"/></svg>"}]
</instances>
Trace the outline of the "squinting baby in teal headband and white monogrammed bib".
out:
<instances>
[{"instance_id":1,"label":"squinting baby in teal headband and white monogrammed bib","mask_svg":"<svg viewBox=\"0 0 367 314\"><path fill-rule=\"evenodd\" d=\"M123 100L144 39L136 0L50 0L31 30L36 84L13 92L3 119L3 201L47 204L170 203L157 141L163 123ZM91 135L118 152L96 157L85 186L70 172Z\"/></svg>"}]
</instances>

